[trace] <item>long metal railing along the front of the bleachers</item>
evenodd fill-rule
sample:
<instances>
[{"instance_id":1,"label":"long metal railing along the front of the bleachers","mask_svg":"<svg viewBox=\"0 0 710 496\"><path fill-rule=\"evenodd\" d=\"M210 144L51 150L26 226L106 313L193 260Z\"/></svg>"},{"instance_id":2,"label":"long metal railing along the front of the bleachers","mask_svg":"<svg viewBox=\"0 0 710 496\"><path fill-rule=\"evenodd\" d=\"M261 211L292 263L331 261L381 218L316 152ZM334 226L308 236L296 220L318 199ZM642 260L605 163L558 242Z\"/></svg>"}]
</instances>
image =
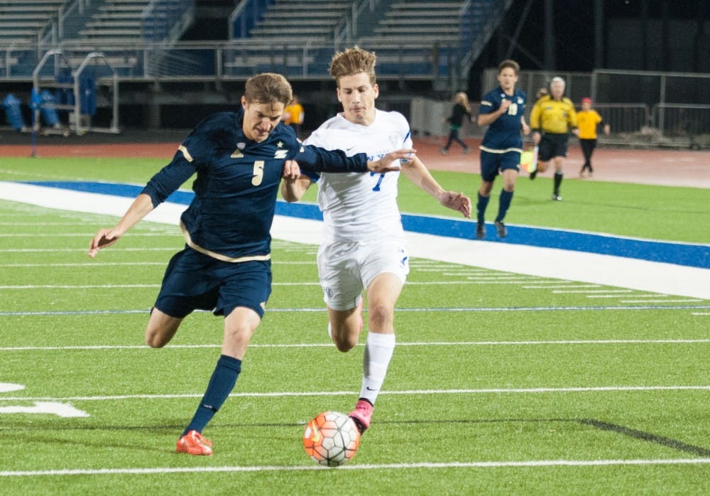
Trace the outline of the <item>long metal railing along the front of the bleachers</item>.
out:
<instances>
[{"instance_id":1,"label":"long metal railing along the front of the bleachers","mask_svg":"<svg viewBox=\"0 0 710 496\"><path fill-rule=\"evenodd\" d=\"M368 47L369 48L369 47ZM378 77L430 79L447 74L457 60L442 56L447 47L378 45ZM0 46L1 80L31 80L33 68L48 50L63 50L76 57L100 51L124 80L222 80L244 79L258 72L281 72L293 79L328 79L332 43L255 43L235 40L223 43L94 43L63 41L58 44ZM177 63L170 64L173 60ZM182 63L181 63L182 60Z\"/></svg>"}]
</instances>

